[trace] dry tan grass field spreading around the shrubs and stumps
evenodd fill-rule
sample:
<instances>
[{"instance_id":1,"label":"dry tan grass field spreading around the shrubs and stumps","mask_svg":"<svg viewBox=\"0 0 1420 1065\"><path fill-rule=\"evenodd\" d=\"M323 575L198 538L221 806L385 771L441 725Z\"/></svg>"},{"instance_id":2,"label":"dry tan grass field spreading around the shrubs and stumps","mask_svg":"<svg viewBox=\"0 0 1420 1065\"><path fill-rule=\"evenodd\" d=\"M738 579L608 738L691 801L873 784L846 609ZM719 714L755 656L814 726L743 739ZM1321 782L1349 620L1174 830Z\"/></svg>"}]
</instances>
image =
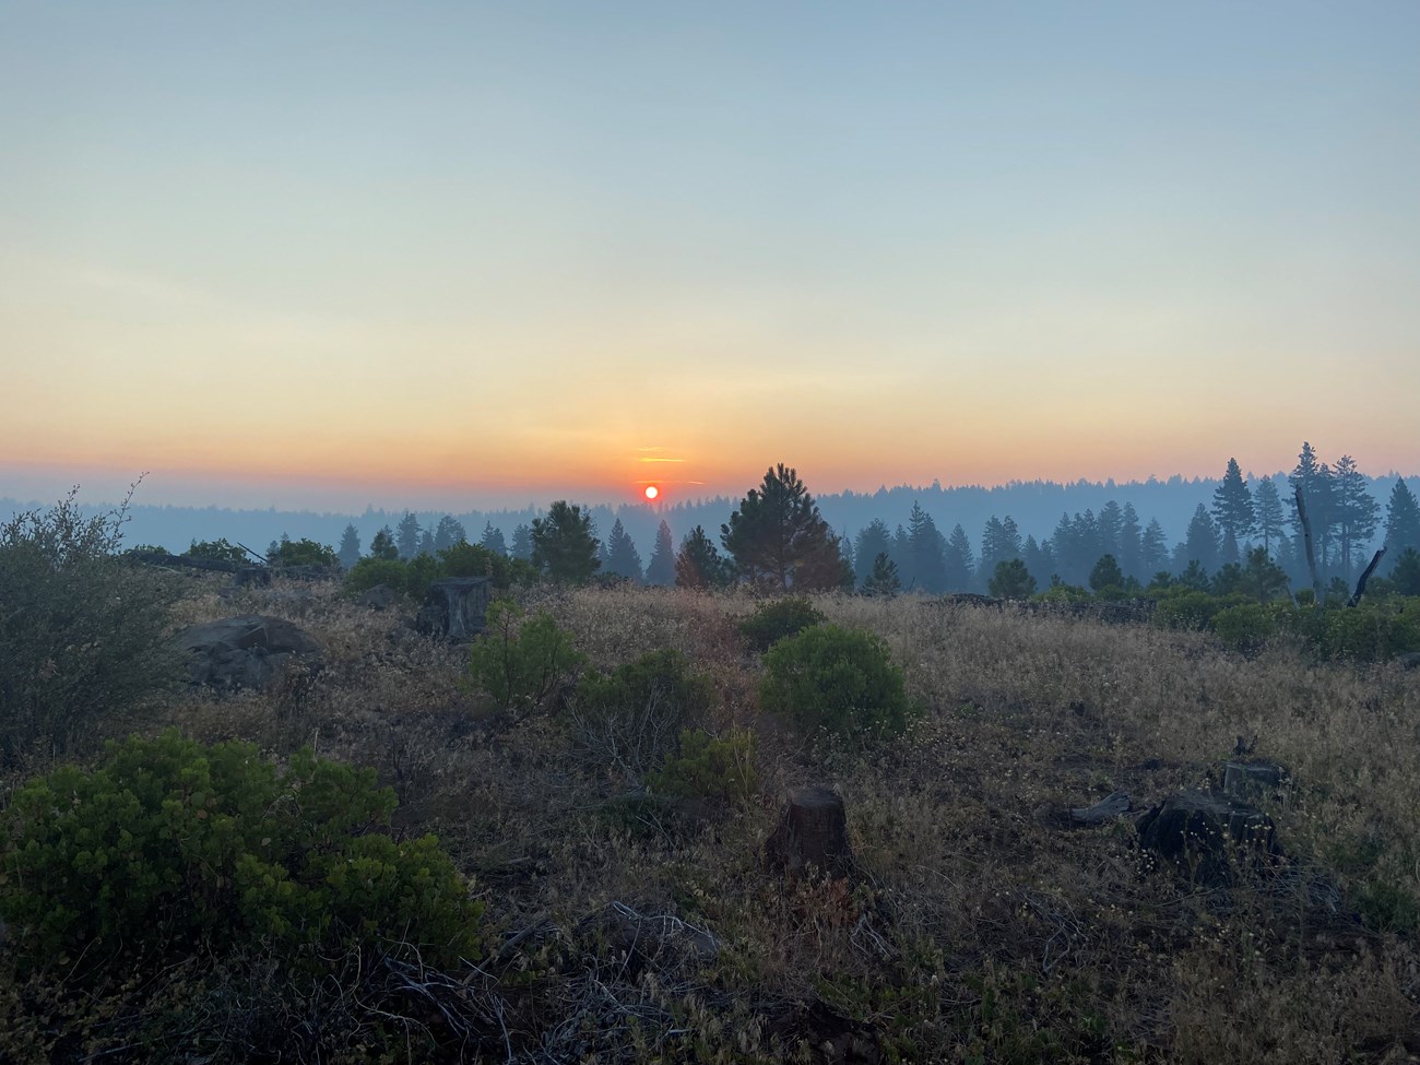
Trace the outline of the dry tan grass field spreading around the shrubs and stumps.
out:
<instances>
[{"instance_id":1,"label":"dry tan grass field spreading around the shrubs and stumps","mask_svg":"<svg viewBox=\"0 0 1420 1065\"><path fill-rule=\"evenodd\" d=\"M469 1059L1420 1059L1420 670L825 596L831 621L886 640L924 710L907 736L859 751L761 711L761 667L736 628L750 598L518 594L595 666L677 649L713 692L703 727L753 733L758 794L676 812L640 801L555 704L491 707L462 683L466 649L393 612L334 586L220 598L203 579L183 623L287 616L325 645L325 670L263 696L185 692L105 727L176 724L278 760L312 746L375 767L399 795L398 829L437 834L487 905L493 961L476 994L490 1035ZM1130 818L1064 816L1115 791L1143 811L1216 784L1238 737L1292 774L1262 801L1287 855L1274 869L1196 886L1147 868ZM846 882L765 868L804 784L845 799ZM635 958L589 932L616 905L659 919ZM713 950L693 949L706 937Z\"/></svg>"}]
</instances>

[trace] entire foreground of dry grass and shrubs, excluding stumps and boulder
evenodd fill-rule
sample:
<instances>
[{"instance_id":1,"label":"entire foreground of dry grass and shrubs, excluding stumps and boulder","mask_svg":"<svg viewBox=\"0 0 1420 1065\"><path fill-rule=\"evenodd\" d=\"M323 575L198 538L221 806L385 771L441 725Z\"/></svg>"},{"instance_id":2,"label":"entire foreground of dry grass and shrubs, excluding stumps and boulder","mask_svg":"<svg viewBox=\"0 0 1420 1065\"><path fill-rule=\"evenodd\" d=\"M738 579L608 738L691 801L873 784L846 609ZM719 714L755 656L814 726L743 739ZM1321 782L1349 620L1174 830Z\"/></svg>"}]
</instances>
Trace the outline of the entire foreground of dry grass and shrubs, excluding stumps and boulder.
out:
<instances>
[{"instance_id":1,"label":"entire foreground of dry grass and shrubs, excluding stumps and boulder","mask_svg":"<svg viewBox=\"0 0 1420 1065\"><path fill-rule=\"evenodd\" d=\"M503 595L459 646L405 622L410 562L376 611L115 548L64 504L0 538L3 1061L1420 1054L1394 584L754 598L436 554ZM189 687L168 636L233 615L318 667ZM1272 846L1140 846L1262 760ZM767 843L805 785L849 852L794 872Z\"/></svg>"}]
</instances>

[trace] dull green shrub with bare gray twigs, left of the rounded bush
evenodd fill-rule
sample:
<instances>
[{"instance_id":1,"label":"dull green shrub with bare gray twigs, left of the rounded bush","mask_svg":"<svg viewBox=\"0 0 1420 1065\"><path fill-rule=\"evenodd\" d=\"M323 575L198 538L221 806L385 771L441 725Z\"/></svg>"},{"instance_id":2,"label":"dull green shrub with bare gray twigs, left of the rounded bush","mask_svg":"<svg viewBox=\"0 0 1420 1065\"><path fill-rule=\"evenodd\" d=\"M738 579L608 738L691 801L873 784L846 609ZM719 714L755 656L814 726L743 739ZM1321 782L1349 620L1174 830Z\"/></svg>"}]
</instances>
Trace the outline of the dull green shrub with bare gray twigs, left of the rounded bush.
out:
<instances>
[{"instance_id":1,"label":"dull green shrub with bare gray twigs, left of the rounded bush","mask_svg":"<svg viewBox=\"0 0 1420 1065\"><path fill-rule=\"evenodd\" d=\"M679 650L642 655L577 684L568 717L581 748L599 765L640 782L674 751L683 728L710 710L710 684Z\"/></svg>"}]
</instances>

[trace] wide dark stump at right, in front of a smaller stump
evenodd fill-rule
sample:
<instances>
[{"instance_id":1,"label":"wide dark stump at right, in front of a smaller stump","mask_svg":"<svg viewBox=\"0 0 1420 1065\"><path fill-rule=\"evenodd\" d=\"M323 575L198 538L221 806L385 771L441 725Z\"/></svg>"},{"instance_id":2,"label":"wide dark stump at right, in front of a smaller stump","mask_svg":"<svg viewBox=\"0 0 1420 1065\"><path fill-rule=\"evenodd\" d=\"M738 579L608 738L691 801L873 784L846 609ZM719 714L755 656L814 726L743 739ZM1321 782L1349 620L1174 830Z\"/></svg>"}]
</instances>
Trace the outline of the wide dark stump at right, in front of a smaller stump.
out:
<instances>
[{"instance_id":1,"label":"wide dark stump at right, in front of a smaller stump","mask_svg":"<svg viewBox=\"0 0 1420 1065\"><path fill-rule=\"evenodd\" d=\"M1139 845L1194 883L1217 888L1240 865L1271 859L1277 829L1272 818L1231 795L1183 791L1145 814Z\"/></svg>"}]
</instances>

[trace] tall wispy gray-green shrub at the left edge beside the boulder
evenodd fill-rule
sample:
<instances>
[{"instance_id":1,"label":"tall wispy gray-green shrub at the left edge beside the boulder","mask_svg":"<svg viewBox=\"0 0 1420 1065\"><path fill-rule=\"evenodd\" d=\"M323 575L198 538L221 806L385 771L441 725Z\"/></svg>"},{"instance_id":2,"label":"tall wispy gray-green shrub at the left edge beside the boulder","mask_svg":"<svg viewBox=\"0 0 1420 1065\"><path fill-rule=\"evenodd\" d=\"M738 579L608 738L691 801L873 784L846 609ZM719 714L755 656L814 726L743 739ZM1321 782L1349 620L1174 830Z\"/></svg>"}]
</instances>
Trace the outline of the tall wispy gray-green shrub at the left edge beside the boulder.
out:
<instances>
[{"instance_id":1,"label":"tall wispy gray-green shrub at the left edge beside the boulder","mask_svg":"<svg viewBox=\"0 0 1420 1065\"><path fill-rule=\"evenodd\" d=\"M70 493L0 525L0 765L78 751L99 714L180 676L179 585L116 554L124 520L85 518Z\"/></svg>"}]
</instances>

